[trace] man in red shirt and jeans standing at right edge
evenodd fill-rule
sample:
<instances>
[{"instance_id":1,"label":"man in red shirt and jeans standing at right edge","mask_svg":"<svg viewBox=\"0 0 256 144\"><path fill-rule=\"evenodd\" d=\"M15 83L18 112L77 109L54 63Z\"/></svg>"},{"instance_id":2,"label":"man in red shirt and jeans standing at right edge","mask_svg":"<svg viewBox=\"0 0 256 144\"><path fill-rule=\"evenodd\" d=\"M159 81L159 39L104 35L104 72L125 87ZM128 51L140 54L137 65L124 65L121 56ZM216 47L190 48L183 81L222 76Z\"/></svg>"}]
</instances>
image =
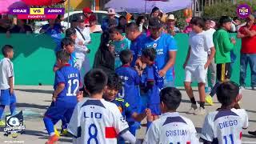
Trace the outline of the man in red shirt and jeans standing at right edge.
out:
<instances>
[{"instance_id":1,"label":"man in red shirt and jeans standing at right edge","mask_svg":"<svg viewBox=\"0 0 256 144\"><path fill-rule=\"evenodd\" d=\"M240 86L246 86L246 67L249 63L251 74L251 87L256 90L256 26L254 16L246 18L246 26L238 30L238 38L242 38L242 49L240 57Z\"/></svg>"}]
</instances>

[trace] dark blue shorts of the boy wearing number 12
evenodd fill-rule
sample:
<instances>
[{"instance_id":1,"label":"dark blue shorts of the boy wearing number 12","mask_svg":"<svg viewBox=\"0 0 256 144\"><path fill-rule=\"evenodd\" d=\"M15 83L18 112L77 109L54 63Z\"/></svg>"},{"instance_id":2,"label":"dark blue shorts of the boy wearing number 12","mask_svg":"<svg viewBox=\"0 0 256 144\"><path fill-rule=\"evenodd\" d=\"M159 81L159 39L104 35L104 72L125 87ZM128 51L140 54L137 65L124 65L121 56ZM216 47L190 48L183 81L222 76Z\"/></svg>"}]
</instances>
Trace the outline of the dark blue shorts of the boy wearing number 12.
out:
<instances>
[{"instance_id":1,"label":"dark blue shorts of the boy wearing number 12","mask_svg":"<svg viewBox=\"0 0 256 144\"><path fill-rule=\"evenodd\" d=\"M66 104L62 102L51 102L45 117L50 118L54 124L62 118L65 118L66 122L69 123L74 107L66 107L65 105Z\"/></svg>"}]
</instances>

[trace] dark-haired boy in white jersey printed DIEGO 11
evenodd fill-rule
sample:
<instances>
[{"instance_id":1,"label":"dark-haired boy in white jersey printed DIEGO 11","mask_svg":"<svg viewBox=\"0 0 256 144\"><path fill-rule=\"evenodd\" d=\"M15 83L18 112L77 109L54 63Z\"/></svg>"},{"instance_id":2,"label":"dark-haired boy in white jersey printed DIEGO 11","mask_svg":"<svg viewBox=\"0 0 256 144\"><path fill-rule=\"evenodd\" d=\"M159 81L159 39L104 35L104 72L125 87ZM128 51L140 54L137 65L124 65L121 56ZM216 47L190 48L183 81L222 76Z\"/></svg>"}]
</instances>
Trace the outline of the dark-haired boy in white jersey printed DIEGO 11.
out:
<instances>
[{"instance_id":1,"label":"dark-haired boy in white jersey printed DIEGO 11","mask_svg":"<svg viewBox=\"0 0 256 144\"><path fill-rule=\"evenodd\" d=\"M206 115L202 126L204 143L242 143L242 129L248 127L246 110L234 109L238 102L239 86L234 82L223 82L217 90L222 107Z\"/></svg>"}]
</instances>

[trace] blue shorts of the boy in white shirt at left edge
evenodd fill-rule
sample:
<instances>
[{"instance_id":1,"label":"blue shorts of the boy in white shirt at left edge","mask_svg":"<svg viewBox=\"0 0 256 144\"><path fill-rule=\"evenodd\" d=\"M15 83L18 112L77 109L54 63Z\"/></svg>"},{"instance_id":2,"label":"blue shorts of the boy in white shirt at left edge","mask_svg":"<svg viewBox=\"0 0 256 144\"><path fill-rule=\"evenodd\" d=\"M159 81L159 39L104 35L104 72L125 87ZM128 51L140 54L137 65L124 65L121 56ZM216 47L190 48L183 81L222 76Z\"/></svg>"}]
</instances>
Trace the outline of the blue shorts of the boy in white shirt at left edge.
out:
<instances>
[{"instance_id":1,"label":"blue shorts of the boy in white shirt at left edge","mask_svg":"<svg viewBox=\"0 0 256 144\"><path fill-rule=\"evenodd\" d=\"M16 103L15 94L10 94L10 89L1 90L0 94L0 105L9 106L10 104Z\"/></svg>"}]
</instances>

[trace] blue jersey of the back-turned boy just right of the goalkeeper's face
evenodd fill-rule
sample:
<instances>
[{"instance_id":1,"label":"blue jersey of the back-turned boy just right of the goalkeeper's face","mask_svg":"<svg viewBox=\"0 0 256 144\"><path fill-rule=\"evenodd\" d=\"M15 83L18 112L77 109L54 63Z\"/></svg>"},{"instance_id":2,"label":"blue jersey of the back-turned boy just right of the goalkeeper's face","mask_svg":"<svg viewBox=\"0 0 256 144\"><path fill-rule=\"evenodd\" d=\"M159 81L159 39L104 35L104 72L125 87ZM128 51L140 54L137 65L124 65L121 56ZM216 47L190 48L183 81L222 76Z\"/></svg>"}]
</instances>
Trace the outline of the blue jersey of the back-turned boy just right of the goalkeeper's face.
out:
<instances>
[{"instance_id":1,"label":"blue jersey of the back-turned boy just right of the goalkeeper's face","mask_svg":"<svg viewBox=\"0 0 256 144\"><path fill-rule=\"evenodd\" d=\"M132 107L138 106L140 98L138 94L138 85L140 78L138 72L130 66L121 66L116 70L116 74L122 79L122 90L118 93L118 98L124 98Z\"/></svg>"}]
</instances>

